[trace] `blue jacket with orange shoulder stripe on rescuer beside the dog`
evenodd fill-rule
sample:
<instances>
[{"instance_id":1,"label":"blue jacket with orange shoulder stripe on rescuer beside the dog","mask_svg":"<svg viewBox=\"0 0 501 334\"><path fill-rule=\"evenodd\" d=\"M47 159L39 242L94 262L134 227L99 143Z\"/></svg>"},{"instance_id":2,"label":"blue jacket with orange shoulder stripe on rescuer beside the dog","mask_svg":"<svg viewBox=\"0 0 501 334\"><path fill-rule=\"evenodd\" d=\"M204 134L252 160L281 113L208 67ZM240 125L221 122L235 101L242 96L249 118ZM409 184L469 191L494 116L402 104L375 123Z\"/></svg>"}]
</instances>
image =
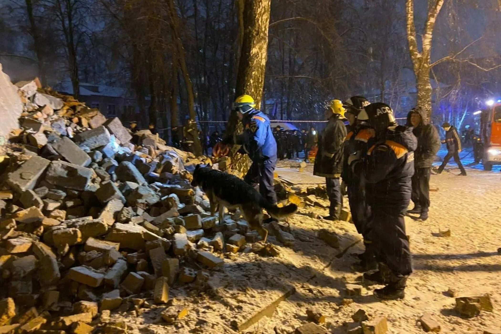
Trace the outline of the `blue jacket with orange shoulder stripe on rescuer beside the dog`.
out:
<instances>
[{"instance_id":1,"label":"blue jacket with orange shoulder stripe on rescuer beside the dog","mask_svg":"<svg viewBox=\"0 0 501 334\"><path fill-rule=\"evenodd\" d=\"M277 142L270 128L270 119L259 110L246 113L242 119L243 135L238 144L253 161L277 157Z\"/></svg>"}]
</instances>

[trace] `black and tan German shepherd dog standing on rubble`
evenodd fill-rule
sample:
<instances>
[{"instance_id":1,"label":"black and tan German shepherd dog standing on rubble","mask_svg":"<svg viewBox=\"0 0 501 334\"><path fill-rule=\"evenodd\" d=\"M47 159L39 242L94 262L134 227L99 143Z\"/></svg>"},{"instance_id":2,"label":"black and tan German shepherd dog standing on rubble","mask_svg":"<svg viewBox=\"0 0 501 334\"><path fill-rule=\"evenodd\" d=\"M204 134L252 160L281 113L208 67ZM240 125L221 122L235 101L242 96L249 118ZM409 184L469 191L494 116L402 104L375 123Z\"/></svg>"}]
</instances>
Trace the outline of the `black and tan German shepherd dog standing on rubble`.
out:
<instances>
[{"instance_id":1,"label":"black and tan German shepherd dog standing on rubble","mask_svg":"<svg viewBox=\"0 0 501 334\"><path fill-rule=\"evenodd\" d=\"M258 231L265 242L268 231L261 225L263 209L279 220L298 209L296 204L279 208L268 202L256 189L238 177L208 167L200 167L200 165L195 167L191 185L199 186L205 192L209 198L211 215L214 215L219 207L219 223L225 207L229 210L239 208L250 228Z\"/></svg>"}]
</instances>

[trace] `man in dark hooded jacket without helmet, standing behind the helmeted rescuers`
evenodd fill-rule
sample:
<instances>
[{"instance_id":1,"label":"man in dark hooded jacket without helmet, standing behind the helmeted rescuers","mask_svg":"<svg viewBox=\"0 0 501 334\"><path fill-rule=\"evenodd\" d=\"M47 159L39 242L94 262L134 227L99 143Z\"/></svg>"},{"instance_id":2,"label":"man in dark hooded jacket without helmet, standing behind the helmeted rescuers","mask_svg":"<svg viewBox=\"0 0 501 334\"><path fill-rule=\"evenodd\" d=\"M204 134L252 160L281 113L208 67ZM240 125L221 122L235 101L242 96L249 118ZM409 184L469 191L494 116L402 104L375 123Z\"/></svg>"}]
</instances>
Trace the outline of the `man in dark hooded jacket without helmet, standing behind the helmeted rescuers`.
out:
<instances>
[{"instance_id":1,"label":"man in dark hooded jacket without helmet, standing behind the helmeted rescuers","mask_svg":"<svg viewBox=\"0 0 501 334\"><path fill-rule=\"evenodd\" d=\"M415 107L407 114L407 126L414 128L412 133L417 138L411 195L414 208L407 212L419 214L418 220L424 221L428 219L430 206L431 164L440 149L440 137L435 127L428 123L426 112L421 107Z\"/></svg>"}]
</instances>

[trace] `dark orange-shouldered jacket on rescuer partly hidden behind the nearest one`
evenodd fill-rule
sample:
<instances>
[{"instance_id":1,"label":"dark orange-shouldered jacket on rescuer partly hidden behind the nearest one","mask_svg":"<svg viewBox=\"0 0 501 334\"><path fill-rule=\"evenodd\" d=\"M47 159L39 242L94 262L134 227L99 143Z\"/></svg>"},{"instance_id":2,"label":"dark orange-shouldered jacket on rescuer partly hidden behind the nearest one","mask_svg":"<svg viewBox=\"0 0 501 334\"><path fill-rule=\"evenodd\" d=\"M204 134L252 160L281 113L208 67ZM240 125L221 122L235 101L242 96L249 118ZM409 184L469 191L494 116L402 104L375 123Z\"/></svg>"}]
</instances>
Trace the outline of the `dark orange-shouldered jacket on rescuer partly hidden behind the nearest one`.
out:
<instances>
[{"instance_id":1,"label":"dark orange-shouldered jacket on rescuer partly hidden behind the nearest one","mask_svg":"<svg viewBox=\"0 0 501 334\"><path fill-rule=\"evenodd\" d=\"M341 177L346 184L356 185L359 183L360 178L354 177L349 164L354 160L364 159L367 151L374 145L374 137L369 132L369 126L352 126L351 131L348 132L344 142L344 164L343 173Z\"/></svg>"}]
</instances>

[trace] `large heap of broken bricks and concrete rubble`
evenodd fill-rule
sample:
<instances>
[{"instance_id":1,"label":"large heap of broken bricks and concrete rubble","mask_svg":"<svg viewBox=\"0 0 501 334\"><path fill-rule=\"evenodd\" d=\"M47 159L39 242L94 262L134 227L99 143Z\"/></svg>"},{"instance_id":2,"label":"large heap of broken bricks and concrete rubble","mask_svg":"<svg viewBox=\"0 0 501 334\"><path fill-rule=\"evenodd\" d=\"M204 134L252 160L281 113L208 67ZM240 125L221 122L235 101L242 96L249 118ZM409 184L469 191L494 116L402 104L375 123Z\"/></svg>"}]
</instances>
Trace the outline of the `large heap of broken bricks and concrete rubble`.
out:
<instances>
[{"instance_id":1,"label":"large heap of broken bricks and concrete rubble","mask_svg":"<svg viewBox=\"0 0 501 334\"><path fill-rule=\"evenodd\" d=\"M257 243L238 211L219 223L190 185L199 163L241 176L229 158L132 134L37 80L16 86L20 127L0 151L0 332L126 332L110 311L155 305L168 305L171 323L186 309L169 304L169 287L205 289L210 270L243 249L280 253ZM287 228L274 223L271 234L293 246Z\"/></svg>"}]
</instances>

